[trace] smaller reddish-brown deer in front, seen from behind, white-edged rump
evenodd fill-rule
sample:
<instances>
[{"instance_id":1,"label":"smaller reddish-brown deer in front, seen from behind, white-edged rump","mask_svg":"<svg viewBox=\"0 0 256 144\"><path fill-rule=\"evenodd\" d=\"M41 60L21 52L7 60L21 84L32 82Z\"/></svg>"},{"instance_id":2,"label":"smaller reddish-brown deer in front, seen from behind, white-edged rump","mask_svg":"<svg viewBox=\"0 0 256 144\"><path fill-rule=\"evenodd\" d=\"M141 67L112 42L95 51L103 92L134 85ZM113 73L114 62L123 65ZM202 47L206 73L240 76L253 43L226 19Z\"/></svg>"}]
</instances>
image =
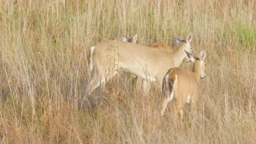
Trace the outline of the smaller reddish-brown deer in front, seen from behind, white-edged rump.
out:
<instances>
[{"instance_id":1,"label":"smaller reddish-brown deer in front, seen from behind, white-edged rump","mask_svg":"<svg viewBox=\"0 0 256 144\"><path fill-rule=\"evenodd\" d=\"M200 78L204 79L205 74L205 58L206 52L203 50L196 58L187 52L190 61L193 62L193 70L184 70L181 68L171 68L162 80L162 105L161 116L164 115L165 109L169 101L176 99L176 108L174 115L181 113L183 119L183 106L185 103L192 101L194 111L196 112L196 103L198 97L198 83Z\"/></svg>"}]
</instances>

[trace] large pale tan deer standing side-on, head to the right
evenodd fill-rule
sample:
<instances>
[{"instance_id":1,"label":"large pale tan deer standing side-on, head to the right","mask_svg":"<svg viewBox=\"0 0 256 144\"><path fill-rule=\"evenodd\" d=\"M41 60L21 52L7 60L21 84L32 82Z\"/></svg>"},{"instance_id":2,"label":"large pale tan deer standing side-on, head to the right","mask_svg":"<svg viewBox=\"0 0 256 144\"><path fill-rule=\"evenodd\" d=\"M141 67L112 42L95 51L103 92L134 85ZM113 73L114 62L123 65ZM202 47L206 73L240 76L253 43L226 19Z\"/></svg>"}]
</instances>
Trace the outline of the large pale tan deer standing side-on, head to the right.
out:
<instances>
[{"instance_id":1,"label":"large pale tan deer standing side-on, head to the right","mask_svg":"<svg viewBox=\"0 0 256 144\"><path fill-rule=\"evenodd\" d=\"M114 40L92 46L89 68L90 71L95 70L95 74L89 83L89 94L101 83L111 79L119 70L155 82L161 87L166 71L179 67L186 56L184 50L191 51L191 40L192 34L189 33L185 40L179 41L178 49L172 53L155 47Z\"/></svg>"}]
</instances>

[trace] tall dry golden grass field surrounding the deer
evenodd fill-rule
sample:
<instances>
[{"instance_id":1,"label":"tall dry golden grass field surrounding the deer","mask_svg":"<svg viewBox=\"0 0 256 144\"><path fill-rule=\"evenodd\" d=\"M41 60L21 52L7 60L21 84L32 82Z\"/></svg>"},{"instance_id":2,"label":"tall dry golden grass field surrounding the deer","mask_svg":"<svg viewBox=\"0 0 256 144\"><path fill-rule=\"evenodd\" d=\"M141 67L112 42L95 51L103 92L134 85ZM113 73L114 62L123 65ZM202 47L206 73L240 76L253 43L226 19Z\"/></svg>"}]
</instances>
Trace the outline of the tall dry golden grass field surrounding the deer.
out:
<instances>
[{"instance_id":1,"label":"tall dry golden grass field surrounding the deer","mask_svg":"<svg viewBox=\"0 0 256 144\"><path fill-rule=\"evenodd\" d=\"M255 1L0 1L0 143L256 143ZM120 73L89 97L89 47L138 34L207 51L197 115ZM191 64L181 67L191 69ZM80 99L85 99L81 101Z\"/></svg>"}]
</instances>

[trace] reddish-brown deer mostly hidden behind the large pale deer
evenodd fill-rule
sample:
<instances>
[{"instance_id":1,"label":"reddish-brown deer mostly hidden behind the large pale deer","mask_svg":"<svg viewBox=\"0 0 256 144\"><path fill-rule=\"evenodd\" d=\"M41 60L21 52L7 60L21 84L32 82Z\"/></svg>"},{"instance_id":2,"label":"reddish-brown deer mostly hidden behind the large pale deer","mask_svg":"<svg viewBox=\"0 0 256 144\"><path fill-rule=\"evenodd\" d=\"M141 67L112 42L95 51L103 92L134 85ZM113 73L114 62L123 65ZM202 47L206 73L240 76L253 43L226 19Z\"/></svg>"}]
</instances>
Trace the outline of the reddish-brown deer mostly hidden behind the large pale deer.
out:
<instances>
[{"instance_id":1,"label":"reddish-brown deer mostly hidden behind the large pale deer","mask_svg":"<svg viewBox=\"0 0 256 144\"><path fill-rule=\"evenodd\" d=\"M138 36L137 34L135 34L135 36L133 37L133 39L130 39L128 37L126 37L124 34L122 34L122 39L123 41L127 42L127 43L133 43L133 44L136 44L137 43L137 39L138 39ZM179 40L175 40L174 42L175 43L179 43ZM159 49L162 49L166 52L173 52L172 48L166 44L161 44L161 43L154 43L154 44L149 44L148 45L149 47L157 47ZM144 95L147 95L149 93L149 89L150 89L150 83L148 83L147 81L143 81L143 79L141 78L138 78L136 76L136 83L137 83L137 92L141 90L142 86L143 86L143 94Z\"/></svg>"}]
</instances>

